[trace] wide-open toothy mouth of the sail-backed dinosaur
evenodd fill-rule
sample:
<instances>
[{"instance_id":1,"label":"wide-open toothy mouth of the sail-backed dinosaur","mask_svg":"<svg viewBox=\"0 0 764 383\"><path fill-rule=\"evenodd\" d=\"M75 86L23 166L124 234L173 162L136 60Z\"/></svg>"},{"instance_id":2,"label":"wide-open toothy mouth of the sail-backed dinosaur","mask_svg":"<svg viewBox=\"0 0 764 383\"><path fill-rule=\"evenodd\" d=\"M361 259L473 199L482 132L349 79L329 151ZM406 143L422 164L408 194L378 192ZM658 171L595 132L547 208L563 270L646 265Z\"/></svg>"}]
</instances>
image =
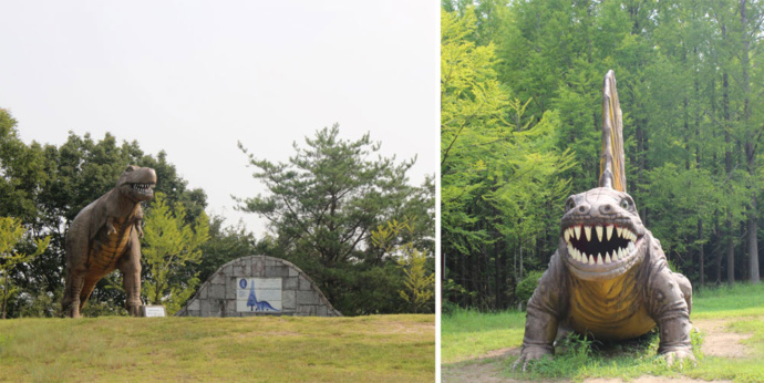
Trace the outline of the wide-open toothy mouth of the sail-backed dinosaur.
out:
<instances>
[{"instance_id":1,"label":"wide-open toothy mouth of the sail-backed dinosaur","mask_svg":"<svg viewBox=\"0 0 764 383\"><path fill-rule=\"evenodd\" d=\"M623 262L634 255L641 239L631 229L615 225L574 225L562 230L568 256L578 265Z\"/></svg>"}]
</instances>

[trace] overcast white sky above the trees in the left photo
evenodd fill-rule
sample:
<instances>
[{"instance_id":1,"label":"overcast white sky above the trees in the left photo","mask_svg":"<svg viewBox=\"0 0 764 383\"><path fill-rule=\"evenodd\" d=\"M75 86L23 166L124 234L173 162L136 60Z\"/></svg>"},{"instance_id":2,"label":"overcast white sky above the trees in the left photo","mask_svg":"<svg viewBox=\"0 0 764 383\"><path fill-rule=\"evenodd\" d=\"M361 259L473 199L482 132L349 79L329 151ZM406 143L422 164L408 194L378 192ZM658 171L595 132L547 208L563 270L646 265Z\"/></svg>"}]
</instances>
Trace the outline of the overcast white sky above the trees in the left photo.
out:
<instances>
[{"instance_id":1,"label":"overcast white sky above the trees in the left photo","mask_svg":"<svg viewBox=\"0 0 764 383\"><path fill-rule=\"evenodd\" d=\"M437 168L437 1L13 1L0 3L0 107L21 138L111 132L167 152L208 213L264 189L237 141L286 162L292 142L340 124L385 156ZM97 196L93 196L96 198Z\"/></svg>"}]
</instances>

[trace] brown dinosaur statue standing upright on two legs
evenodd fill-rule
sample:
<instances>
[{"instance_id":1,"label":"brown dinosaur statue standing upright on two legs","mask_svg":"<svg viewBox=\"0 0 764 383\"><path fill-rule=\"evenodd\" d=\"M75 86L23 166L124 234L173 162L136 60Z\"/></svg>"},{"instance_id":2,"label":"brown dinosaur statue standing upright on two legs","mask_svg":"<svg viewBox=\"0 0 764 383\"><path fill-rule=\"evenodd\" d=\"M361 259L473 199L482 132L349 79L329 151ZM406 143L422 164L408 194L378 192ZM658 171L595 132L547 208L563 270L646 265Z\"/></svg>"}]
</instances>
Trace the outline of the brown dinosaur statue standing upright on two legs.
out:
<instances>
[{"instance_id":1,"label":"brown dinosaur statue standing upright on two legs","mask_svg":"<svg viewBox=\"0 0 764 383\"><path fill-rule=\"evenodd\" d=\"M66 234L66 284L64 317L79 318L95 283L118 269L123 273L131 315L141 306L141 201L154 197L156 172L128 166L116 187L87 205L74 218Z\"/></svg>"}]
</instances>

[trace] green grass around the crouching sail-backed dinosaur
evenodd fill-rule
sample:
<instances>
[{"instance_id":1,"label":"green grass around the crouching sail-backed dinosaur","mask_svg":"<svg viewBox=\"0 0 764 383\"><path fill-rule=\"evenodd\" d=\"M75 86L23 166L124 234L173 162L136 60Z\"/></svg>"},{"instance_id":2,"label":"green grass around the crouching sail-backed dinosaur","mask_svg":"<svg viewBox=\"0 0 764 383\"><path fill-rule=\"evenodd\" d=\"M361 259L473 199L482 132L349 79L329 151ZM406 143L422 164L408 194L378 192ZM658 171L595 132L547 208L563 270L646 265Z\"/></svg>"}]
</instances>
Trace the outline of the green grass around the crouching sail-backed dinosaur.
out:
<instances>
[{"instance_id":1,"label":"green grass around the crouching sail-backed dinosaur","mask_svg":"<svg viewBox=\"0 0 764 383\"><path fill-rule=\"evenodd\" d=\"M629 380L641 375L664 375L702 380L764 381L764 284L739 283L733 289L721 287L696 290L693 296L691 320L695 324L713 321L721 323L724 332L750 335L741 341L746 348L746 354L736 358L704 355L698 345L704 341L704 335L709 334L701 331L693 335L698 366L669 368L663 359L655 356L657 334L626 344L602 344L570 339L565 346L557 349L553 360L537 362L526 373L514 372L510 368L517 359L516 348L523 343L525 313L457 311L452 315L443 315L442 319L441 355L444 376L447 377L450 371L485 371L478 366L493 363L496 374L494 377L517 380Z\"/></svg>"}]
</instances>

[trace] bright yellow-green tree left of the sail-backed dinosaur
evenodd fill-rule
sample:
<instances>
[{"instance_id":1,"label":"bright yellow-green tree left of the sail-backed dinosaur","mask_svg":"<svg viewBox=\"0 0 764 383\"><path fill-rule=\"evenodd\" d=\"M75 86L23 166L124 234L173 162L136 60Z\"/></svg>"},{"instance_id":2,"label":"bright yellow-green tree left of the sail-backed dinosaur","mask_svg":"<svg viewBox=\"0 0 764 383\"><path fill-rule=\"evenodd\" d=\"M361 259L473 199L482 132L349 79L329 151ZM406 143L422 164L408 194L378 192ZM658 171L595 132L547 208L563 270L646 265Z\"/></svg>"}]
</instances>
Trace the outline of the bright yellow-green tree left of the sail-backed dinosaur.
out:
<instances>
[{"instance_id":1,"label":"bright yellow-green tree left of the sail-backed dinosaur","mask_svg":"<svg viewBox=\"0 0 764 383\"><path fill-rule=\"evenodd\" d=\"M523 263L508 250L534 249L547 237L559 210L549 207L569 190L561 174L572 166L572 154L555 146L558 113L528 116L531 101L512 99L500 85L493 43L472 41L476 17L471 9L442 12L441 25L444 272L455 286L476 292L447 298L463 306L506 307L508 281L522 278Z\"/></svg>"}]
</instances>

